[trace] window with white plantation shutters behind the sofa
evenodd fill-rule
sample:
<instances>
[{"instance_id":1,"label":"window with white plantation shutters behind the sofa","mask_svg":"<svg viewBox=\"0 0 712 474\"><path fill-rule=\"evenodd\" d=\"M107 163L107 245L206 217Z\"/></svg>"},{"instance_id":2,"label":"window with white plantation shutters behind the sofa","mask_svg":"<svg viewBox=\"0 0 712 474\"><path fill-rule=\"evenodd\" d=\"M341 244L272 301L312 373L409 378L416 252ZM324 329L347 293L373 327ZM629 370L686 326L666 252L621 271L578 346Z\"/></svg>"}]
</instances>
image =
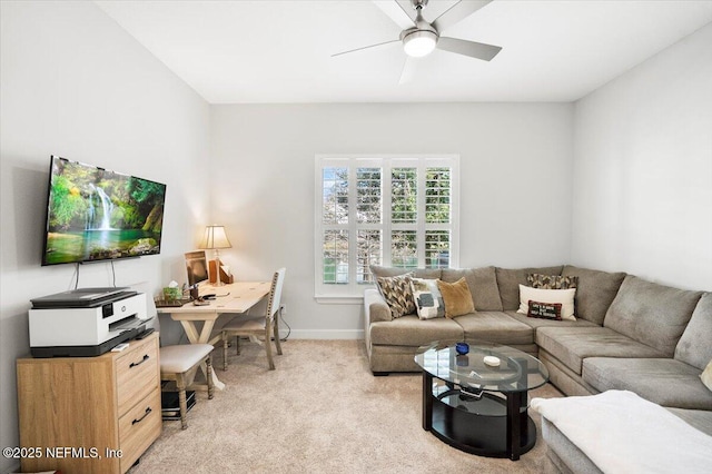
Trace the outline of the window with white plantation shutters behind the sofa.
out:
<instances>
[{"instance_id":1,"label":"window with white plantation shutters behind the sofa","mask_svg":"<svg viewBox=\"0 0 712 474\"><path fill-rule=\"evenodd\" d=\"M359 297L370 265L456 267L457 156L316 157L317 298Z\"/></svg>"}]
</instances>

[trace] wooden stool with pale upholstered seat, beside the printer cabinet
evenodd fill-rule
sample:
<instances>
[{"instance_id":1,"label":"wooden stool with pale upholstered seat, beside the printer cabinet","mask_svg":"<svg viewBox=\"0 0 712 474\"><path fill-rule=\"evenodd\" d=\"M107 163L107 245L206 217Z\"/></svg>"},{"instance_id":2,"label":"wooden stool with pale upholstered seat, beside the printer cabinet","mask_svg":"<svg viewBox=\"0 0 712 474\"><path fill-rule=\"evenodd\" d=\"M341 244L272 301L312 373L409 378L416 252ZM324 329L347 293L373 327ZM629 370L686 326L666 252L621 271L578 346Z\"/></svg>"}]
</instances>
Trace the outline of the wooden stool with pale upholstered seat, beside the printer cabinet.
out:
<instances>
[{"instance_id":1,"label":"wooden stool with pale upholstered seat, beside the printer cabinet","mask_svg":"<svg viewBox=\"0 0 712 474\"><path fill-rule=\"evenodd\" d=\"M182 429L188 427L188 423L186 423L186 414L188 413L186 376L204 362L207 366L208 398L212 398L211 352L212 346L209 344L181 344L160 348L160 379L176 382L176 386L178 387L178 404L180 406L180 427Z\"/></svg>"}]
</instances>

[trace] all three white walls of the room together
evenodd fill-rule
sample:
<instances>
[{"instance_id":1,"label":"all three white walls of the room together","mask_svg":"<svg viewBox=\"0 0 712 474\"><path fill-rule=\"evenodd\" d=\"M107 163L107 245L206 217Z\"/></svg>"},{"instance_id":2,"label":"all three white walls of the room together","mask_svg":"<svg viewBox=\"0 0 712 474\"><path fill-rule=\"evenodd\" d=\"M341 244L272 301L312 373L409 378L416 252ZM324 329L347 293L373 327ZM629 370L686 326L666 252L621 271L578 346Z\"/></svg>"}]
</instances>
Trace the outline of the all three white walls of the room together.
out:
<instances>
[{"instance_id":1,"label":"all three white walls of the room together","mask_svg":"<svg viewBox=\"0 0 712 474\"><path fill-rule=\"evenodd\" d=\"M362 335L358 305L313 297L317 154L459 154L463 267L573 259L712 289L712 26L575 108L208 107L90 2L0 9L3 447L18 443L29 299L72 286L73 267L40 267L51 154L168 185L161 255L117 263L117 284L185 278L200 227L224 224L239 279L287 267L295 337ZM81 268L82 286L111 283L107 264Z\"/></svg>"}]
</instances>

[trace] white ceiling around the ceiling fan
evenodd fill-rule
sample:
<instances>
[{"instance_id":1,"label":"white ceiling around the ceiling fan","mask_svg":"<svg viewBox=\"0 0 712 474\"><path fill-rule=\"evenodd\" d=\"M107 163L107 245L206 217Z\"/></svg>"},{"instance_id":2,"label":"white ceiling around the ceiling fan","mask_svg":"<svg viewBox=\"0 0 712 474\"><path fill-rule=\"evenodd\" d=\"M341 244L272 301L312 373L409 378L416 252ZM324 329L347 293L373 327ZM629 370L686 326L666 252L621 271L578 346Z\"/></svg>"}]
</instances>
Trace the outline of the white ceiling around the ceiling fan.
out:
<instances>
[{"instance_id":1,"label":"white ceiling around the ceiling fan","mask_svg":"<svg viewBox=\"0 0 712 474\"><path fill-rule=\"evenodd\" d=\"M442 33L497 57L436 50L398 85L399 43L332 57L398 38L372 1L96 3L210 103L572 101L712 21L710 0L495 0Z\"/></svg>"}]
</instances>

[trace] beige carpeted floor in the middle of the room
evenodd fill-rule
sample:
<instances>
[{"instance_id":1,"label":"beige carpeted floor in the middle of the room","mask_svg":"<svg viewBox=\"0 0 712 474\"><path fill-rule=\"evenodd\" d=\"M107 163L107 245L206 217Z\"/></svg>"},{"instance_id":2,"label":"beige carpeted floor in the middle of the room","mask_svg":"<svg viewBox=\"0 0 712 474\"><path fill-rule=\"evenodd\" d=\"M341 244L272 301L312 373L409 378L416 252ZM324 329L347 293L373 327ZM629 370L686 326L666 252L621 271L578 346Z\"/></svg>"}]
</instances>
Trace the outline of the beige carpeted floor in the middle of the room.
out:
<instances>
[{"instance_id":1,"label":"beige carpeted floor in the middle of the room","mask_svg":"<svg viewBox=\"0 0 712 474\"><path fill-rule=\"evenodd\" d=\"M241 344L222 372L226 384L161 436L130 474L191 473L541 473L545 445L517 462L452 448L421 425L418 374L374 377L363 340L288 340L267 369L264 349ZM551 385L531 396L556 397ZM531 415L540 426L538 415Z\"/></svg>"}]
</instances>

